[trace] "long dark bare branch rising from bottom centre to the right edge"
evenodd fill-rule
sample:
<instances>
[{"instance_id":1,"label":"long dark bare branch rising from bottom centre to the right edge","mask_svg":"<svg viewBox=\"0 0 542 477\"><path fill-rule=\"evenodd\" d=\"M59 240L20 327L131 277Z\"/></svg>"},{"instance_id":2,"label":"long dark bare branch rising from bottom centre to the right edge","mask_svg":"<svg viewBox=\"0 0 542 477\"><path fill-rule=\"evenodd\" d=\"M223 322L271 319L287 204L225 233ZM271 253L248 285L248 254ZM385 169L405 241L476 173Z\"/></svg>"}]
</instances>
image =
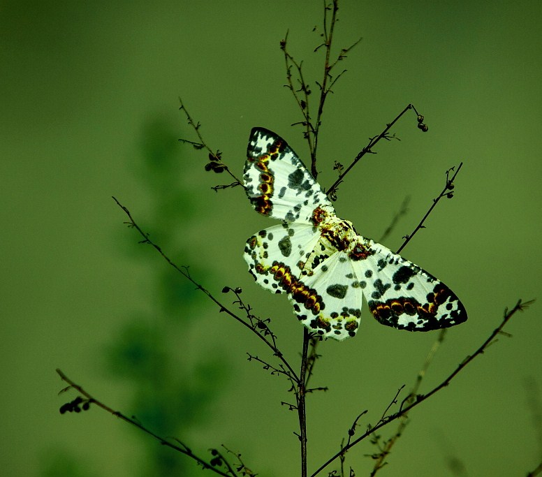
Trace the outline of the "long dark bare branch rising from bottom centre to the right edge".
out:
<instances>
[{"instance_id":1,"label":"long dark bare branch rising from bottom centre to the right edge","mask_svg":"<svg viewBox=\"0 0 542 477\"><path fill-rule=\"evenodd\" d=\"M379 430L381 427L384 427L385 425L388 425L389 423L392 423L394 420L400 418L401 416L404 416L406 413L411 411L411 409L418 406L419 404L424 402L426 399L428 399L432 395L434 395L435 392L438 392L442 388L445 388L446 386L448 386L448 384L450 384L450 382L455 378L455 376L457 376L457 374L459 374L462 371L462 369L464 369L464 367L466 367L469 364L469 362L474 360L474 358L476 358L476 356L483 354L485 349L488 348L488 346L490 346L490 344L493 342L495 337L497 337L497 335L499 335L499 333L501 332L502 328L504 328L504 325L506 325L506 323L508 323L508 321L510 321L512 316L514 316L518 311L524 311L533 302L534 302L534 300L529 300L527 302L522 302L521 300L519 300L518 303L515 304L515 307L513 307L513 309L511 309L510 311L508 311L508 309L505 309L504 310L504 317L503 317L501 323L499 324L499 326L497 326L497 328L495 328L495 330L493 330L493 332L490 334L488 339L486 339L485 342L483 342L483 344L481 344L481 346L479 346L478 349L476 349L476 351L474 351L473 354L468 355L467 358L465 358L460 363L460 365L457 366L455 371L453 371L448 377L446 377L446 379L444 379L444 381L442 381L438 386L436 386L435 388L430 390L430 392L427 392L427 394L425 394L425 395L416 395L415 402L413 402L411 404L408 404L405 407L403 407L403 405L401 405L401 408L400 408L399 411L397 411L397 413L388 416L388 418L386 418L385 420L379 422L374 427L369 427L369 429L364 434L362 434L362 436L358 437L358 439L356 439L355 441L352 441L351 443L349 443L348 446L344 446L344 448L342 450L340 450L338 453L336 453L335 455L330 457L327 461L325 461L324 464L322 464L320 467L318 467L318 469L316 469L316 471L313 474L311 474L310 477L314 477L314 476L318 475L323 469L325 469L325 467L328 467L328 465L331 464L331 462L333 462L334 460L339 458L341 455L346 453L346 451L348 451L353 446L356 446L357 443L360 443L363 439L367 438L367 436L370 436L376 430Z\"/></svg>"}]
</instances>

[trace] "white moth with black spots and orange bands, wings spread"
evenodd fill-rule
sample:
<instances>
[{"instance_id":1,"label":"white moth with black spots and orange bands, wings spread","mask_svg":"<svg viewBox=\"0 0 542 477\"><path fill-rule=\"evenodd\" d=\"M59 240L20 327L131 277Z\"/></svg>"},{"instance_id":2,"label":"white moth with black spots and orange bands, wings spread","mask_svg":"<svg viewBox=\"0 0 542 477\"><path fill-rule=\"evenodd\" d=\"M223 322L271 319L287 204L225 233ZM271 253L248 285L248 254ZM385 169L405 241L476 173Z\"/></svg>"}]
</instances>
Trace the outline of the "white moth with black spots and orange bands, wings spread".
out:
<instances>
[{"instance_id":1,"label":"white moth with black spots and orange bands, wings spread","mask_svg":"<svg viewBox=\"0 0 542 477\"><path fill-rule=\"evenodd\" d=\"M252 129L243 179L256 212L281 221L247 240L249 272L263 288L285 293L315 335L355 336L363 296L377 321L400 330L437 330L467 320L448 286L339 219L277 134Z\"/></svg>"}]
</instances>

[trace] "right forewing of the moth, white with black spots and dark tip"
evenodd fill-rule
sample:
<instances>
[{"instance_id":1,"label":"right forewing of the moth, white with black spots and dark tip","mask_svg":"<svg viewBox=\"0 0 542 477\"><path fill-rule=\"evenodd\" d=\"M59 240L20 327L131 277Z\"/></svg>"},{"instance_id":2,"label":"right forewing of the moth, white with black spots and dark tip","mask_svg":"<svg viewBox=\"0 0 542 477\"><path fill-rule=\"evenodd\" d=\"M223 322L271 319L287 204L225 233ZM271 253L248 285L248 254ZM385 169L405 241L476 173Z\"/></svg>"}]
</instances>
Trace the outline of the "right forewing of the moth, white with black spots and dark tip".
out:
<instances>
[{"instance_id":1,"label":"right forewing of the moth, white with black spots and dark tip","mask_svg":"<svg viewBox=\"0 0 542 477\"><path fill-rule=\"evenodd\" d=\"M368 240L373 254L353 262L374 318L400 330L429 331L467 321L467 311L448 286L402 256Z\"/></svg>"}]
</instances>

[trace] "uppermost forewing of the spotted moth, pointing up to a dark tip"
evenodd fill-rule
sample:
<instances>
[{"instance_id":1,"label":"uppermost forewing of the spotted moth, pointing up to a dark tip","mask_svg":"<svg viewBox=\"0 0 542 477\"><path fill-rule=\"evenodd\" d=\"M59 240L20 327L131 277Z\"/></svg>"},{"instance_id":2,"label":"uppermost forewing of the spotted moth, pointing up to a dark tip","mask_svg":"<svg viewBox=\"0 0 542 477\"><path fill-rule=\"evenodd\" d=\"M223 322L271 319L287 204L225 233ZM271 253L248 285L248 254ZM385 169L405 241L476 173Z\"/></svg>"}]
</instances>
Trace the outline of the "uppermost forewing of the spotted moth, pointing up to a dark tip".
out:
<instances>
[{"instance_id":1,"label":"uppermost forewing of the spotted moth, pointing up to a dark tip","mask_svg":"<svg viewBox=\"0 0 542 477\"><path fill-rule=\"evenodd\" d=\"M310 223L318 205L333 207L288 143L268 129L250 133L244 186L254 209L287 222Z\"/></svg>"}]
</instances>

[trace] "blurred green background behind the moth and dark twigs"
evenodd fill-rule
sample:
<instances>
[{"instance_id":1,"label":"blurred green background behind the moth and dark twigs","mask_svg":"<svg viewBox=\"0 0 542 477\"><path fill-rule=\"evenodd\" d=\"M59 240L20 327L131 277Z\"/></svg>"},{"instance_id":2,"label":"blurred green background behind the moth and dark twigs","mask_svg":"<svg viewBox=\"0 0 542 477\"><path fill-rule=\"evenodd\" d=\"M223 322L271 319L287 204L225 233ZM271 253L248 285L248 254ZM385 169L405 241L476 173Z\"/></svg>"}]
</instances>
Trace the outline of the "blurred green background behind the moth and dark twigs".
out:
<instances>
[{"instance_id":1,"label":"blurred green background behind the moth and dark twigs","mask_svg":"<svg viewBox=\"0 0 542 477\"><path fill-rule=\"evenodd\" d=\"M321 1L1 1L0 469L10 476L201 475L191 461L99 411L61 416L89 392L205 455L224 443L261 476L298 475L288 383L247 362L271 360L252 335L175 274L123 225L115 195L154 240L219 299L241 286L272 316L298 359L302 327L287 300L254 284L244 242L271 226L242 189L206 173L206 154L178 110L241 174L251 127L307 147L283 87L279 41L321 78L313 54ZM542 3L342 1L336 47L359 36L328 99L319 181L349 160L405 105L404 117L339 191L339 217L397 249L460 161L444 200L403 251L460 295L469 321L454 328L420 392L439 383L498 325L505 307L540 296ZM411 413L387 476L523 476L542 459L539 303L452 385ZM309 470L339 448L353 418L375 423L413 383L436 333L385 328L365 313L355 339L319 346L309 396ZM538 418L536 417L538 416ZM538 420L537 420L538 419ZM395 426L382 432L390 435ZM348 454L368 475L369 442ZM330 467L329 471L334 467ZM322 475L327 475L323 473ZM380 474L379 474L380 475Z\"/></svg>"}]
</instances>

